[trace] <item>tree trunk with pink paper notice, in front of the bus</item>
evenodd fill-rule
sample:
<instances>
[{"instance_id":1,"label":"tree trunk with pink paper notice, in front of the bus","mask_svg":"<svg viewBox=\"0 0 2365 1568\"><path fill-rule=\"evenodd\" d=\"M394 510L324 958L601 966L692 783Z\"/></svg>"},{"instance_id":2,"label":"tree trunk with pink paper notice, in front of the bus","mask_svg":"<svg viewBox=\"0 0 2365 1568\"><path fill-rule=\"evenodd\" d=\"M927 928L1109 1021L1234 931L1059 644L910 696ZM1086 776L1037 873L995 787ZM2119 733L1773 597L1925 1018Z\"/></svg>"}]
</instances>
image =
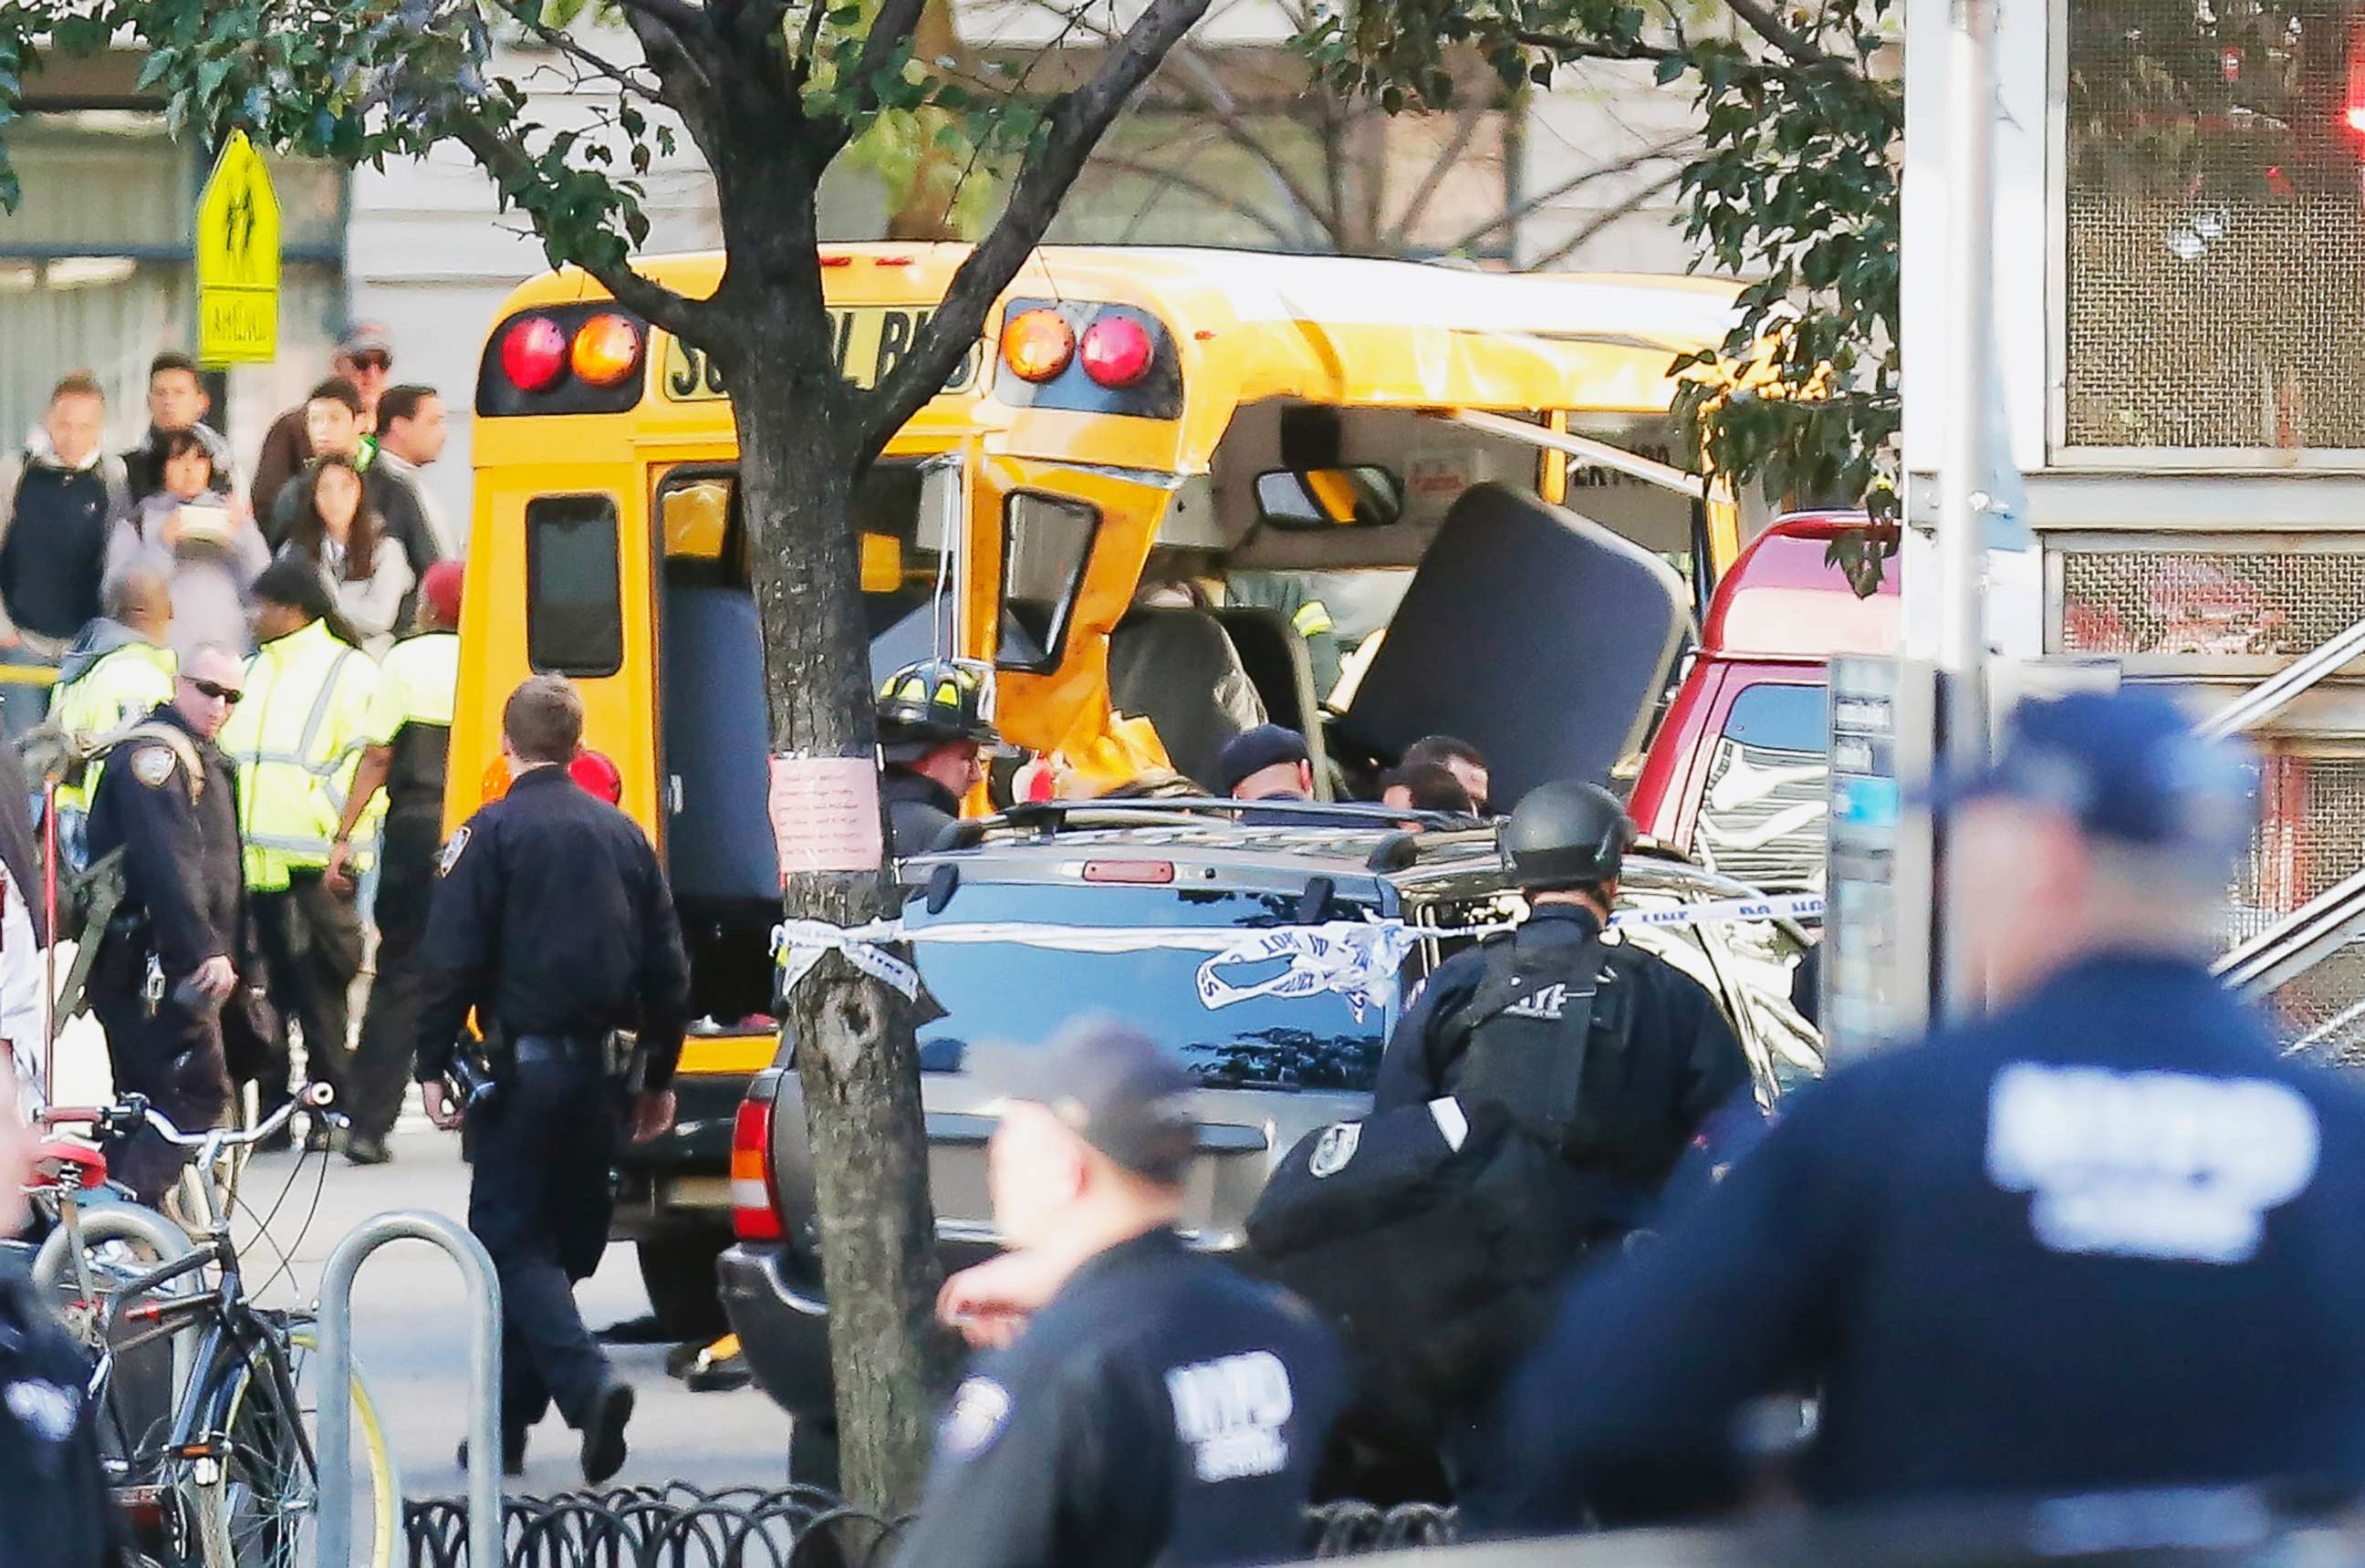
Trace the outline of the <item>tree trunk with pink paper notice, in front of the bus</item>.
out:
<instances>
[{"instance_id":1,"label":"tree trunk with pink paper notice, in front of the bus","mask_svg":"<svg viewBox=\"0 0 2365 1568\"><path fill-rule=\"evenodd\" d=\"M870 639L851 527L854 442L814 397L835 395L828 343L747 324L731 355L740 504L764 629L776 750L875 759ZM828 378L828 381L816 381ZM885 861L882 861L885 866ZM892 877L792 875L790 918L861 925L894 911ZM830 953L790 993L830 1296L840 1480L894 1518L918 1507L929 1391L951 1372L934 1327L937 1227L927 1192L911 1005Z\"/></svg>"}]
</instances>

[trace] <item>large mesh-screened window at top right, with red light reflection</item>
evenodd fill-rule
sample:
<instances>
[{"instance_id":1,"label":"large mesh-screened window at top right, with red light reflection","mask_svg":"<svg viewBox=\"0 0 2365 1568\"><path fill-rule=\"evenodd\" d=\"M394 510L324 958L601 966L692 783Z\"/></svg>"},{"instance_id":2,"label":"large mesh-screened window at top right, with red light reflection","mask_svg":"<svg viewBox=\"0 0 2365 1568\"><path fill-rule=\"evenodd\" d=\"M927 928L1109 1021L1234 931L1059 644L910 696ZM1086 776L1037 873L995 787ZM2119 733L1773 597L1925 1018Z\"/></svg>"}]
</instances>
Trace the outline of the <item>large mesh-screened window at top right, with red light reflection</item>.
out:
<instances>
[{"instance_id":1,"label":"large mesh-screened window at top right, with red light reflection","mask_svg":"<svg viewBox=\"0 0 2365 1568\"><path fill-rule=\"evenodd\" d=\"M2365 449L2365 5L2069 5L2072 447Z\"/></svg>"}]
</instances>

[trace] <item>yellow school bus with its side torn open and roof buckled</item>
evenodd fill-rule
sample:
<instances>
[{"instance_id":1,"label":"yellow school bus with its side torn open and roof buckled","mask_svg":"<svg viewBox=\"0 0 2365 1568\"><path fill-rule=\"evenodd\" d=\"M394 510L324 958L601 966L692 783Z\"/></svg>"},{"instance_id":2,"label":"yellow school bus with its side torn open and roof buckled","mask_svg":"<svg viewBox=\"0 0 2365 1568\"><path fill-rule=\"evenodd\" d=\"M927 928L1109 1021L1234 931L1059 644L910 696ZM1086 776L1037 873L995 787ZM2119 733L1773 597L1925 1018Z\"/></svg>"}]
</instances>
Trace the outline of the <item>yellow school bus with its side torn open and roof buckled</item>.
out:
<instances>
[{"instance_id":1,"label":"yellow school bus with its side torn open and roof buckled","mask_svg":"<svg viewBox=\"0 0 2365 1568\"><path fill-rule=\"evenodd\" d=\"M896 362L963 258L825 248L849 381ZM702 296L721 258L643 270ZM1043 248L858 492L873 662L991 660L1012 743L1114 780L1197 773L1242 695L1320 740L1322 705L1353 707L1391 610L1480 490L1566 504L1698 601L1745 527L1679 459L1667 367L1722 343L1731 312L1734 289L1700 279ZM728 388L563 270L492 324L473 442L447 816L501 788L511 686L570 674L681 901L700 1015L686 1138L714 1140L773 1052L778 892ZM731 1086L717 1104L691 1100L707 1078ZM719 1220L721 1173L719 1142L683 1156L639 1223Z\"/></svg>"}]
</instances>

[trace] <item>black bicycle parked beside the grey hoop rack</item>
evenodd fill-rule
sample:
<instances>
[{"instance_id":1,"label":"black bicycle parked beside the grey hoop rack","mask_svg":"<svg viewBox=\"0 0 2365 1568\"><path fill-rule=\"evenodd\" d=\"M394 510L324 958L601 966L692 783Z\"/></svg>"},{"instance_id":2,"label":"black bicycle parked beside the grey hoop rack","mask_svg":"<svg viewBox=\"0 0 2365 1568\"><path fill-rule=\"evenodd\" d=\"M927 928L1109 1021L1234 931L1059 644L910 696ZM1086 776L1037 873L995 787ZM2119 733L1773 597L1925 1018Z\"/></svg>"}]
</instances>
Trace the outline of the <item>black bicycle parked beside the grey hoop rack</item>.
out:
<instances>
[{"instance_id":1,"label":"black bicycle parked beside the grey hoop rack","mask_svg":"<svg viewBox=\"0 0 2365 1568\"><path fill-rule=\"evenodd\" d=\"M315 1109L324 1097L315 1097ZM244 1152L293 1116L296 1102L248 1130L182 1133L140 1095L109 1107L54 1107L45 1126L88 1126L97 1138L128 1138L142 1128L194 1149L194 1180L184 1180L192 1223L189 1251L137 1265L123 1244L163 1251L173 1225L137 1204L85 1206L80 1194L104 1187L104 1161L76 1145L52 1145L61 1166L33 1197L57 1223L33 1263L43 1289L71 1287L66 1322L90 1346L97 1365L90 1395L102 1405L102 1433L114 1450L116 1495L140 1525L149 1551L180 1568L293 1568L303 1559L319 1509L322 1476L312 1443L317 1395L307 1386L317 1339L312 1315L253 1303L229 1235L225 1152ZM64 1149L73 1149L64 1154ZM270 1282L265 1282L270 1289ZM116 1372L125 1358L156 1341L177 1343L168 1410L140 1419ZM371 1568L393 1568L402 1540L402 1504L376 1400L352 1374L348 1395L369 1490ZM151 1400L154 1402L154 1400ZM348 1485L352 1478L341 1478Z\"/></svg>"}]
</instances>

